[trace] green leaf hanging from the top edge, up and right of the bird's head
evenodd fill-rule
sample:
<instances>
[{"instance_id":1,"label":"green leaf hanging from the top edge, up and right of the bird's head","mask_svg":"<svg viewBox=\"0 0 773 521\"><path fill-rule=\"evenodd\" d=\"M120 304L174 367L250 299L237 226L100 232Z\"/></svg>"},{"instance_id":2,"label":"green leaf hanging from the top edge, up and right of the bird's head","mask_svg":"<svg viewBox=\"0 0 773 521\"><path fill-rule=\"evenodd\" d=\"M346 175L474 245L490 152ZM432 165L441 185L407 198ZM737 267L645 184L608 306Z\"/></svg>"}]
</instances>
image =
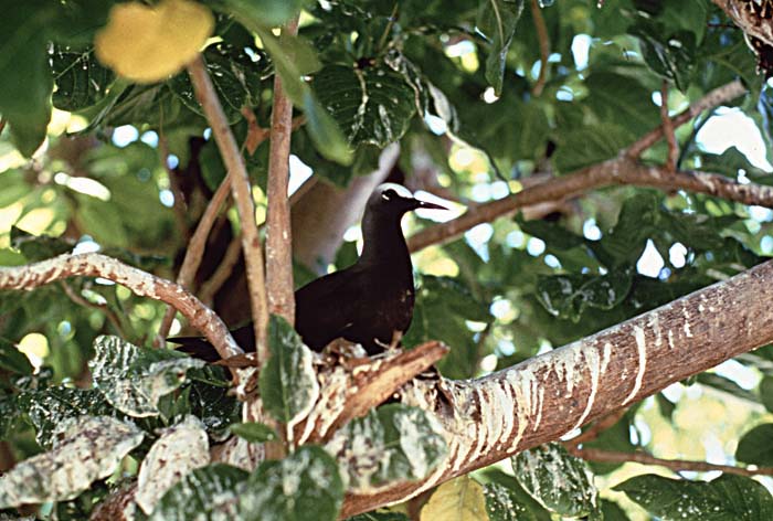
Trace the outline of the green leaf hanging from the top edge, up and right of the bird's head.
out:
<instances>
[{"instance_id":1,"label":"green leaf hanging from the top edge, up and right of the bird's head","mask_svg":"<svg viewBox=\"0 0 773 521\"><path fill-rule=\"evenodd\" d=\"M480 0L478 3L475 29L491 43L486 59L486 79L497 96L502 92L507 51L522 11L523 0Z\"/></svg>"}]
</instances>

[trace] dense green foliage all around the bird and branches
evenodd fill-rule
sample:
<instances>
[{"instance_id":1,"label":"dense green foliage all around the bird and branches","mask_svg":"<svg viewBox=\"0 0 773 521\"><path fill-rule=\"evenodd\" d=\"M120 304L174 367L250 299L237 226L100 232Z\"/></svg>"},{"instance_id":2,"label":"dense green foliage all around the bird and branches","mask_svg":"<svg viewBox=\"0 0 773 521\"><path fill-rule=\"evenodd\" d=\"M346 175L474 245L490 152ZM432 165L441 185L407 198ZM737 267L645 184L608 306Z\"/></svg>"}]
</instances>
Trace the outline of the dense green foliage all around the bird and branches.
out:
<instances>
[{"instance_id":1,"label":"dense green foliage all around the bird and branches","mask_svg":"<svg viewBox=\"0 0 773 521\"><path fill-rule=\"evenodd\" d=\"M184 71L135 83L97 60L95 39L110 9L124 3L3 2L0 265L99 249L173 279L224 179ZM399 142L392 180L474 209L537 174L566 176L616 157L660 124L664 81L675 114L735 78L745 96L677 130L677 167L773 184L770 164L752 163L744 148L759 135L770 150L769 87L741 30L708 0L202 0L198 7L213 13L202 54L236 140L247 143L261 220L268 141L254 139L271 126L275 74L304 116L292 153L313 179L341 189L375 170L384 147ZM299 36L277 38L272 28L298 9ZM142 21L140 32L150 23ZM174 49L183 40L124 44L131 52L146 44ZM708 147L701 130L730 117L745 121L748 135L724 136L738 138L738 148ZM661 142L642 160L664 164L667 152ZM404 343L447 343L440 369L448 378L510 366L759 264L773 253L771 222L770 210L716 196L617 187L481 224L414 256L420 290ZM432 225L412 219L409 230ZM239 231L235 212L219 226L225 242L213 244L220 254L208 251L199 289ZM356 241L345 242L335 267L354 254ZM296 283L319 268L299 264ZM327 451L305 446L252 472L205 465L211 446L275 433L242 423L221 368L152 348L165 311L87 277L0 293L0 469L18 462L0 478L0 509L7 509L0 517L40 504L42 515L85 519L139 475L145 496L138 492L134 519L308 519L309 511L336 519L347 487L421 479L445 455L431 415L389 404L346 427L350 446L340 438ZM266 410L292 424L317 382L292 329L278 319L271 328L273 365L260 387ZM589 446L773 467L771 412L773 350L763 348L635 404ZM160 470L142 477L141 468L169 459L176 446L186 447L181 459L190 464L181 481ZM354 446L362 450L357 461L339 466L330 455L352 454ZM197 455L204 464L194 465ZM443 485L422 519L617 520L642 519L644 511L663 519L685 512L769 519L773 512L770 492L746 477L675 480L632 465L589 464L561 445L511 462ZM70 479L51 479L55 472ZM646 475L626 480L634 474ZM358 519L405 519L409 510Z\"/></svg>"}]
</instances>

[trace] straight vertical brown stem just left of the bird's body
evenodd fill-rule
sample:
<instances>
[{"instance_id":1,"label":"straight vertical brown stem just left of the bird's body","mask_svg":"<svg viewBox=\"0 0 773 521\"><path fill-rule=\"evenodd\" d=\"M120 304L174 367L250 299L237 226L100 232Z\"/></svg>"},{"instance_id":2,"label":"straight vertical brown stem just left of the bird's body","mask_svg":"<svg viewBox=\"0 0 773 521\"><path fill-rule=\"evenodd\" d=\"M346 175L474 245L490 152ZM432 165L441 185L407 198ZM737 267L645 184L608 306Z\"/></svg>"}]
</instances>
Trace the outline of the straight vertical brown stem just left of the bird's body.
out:
<instances>
[{"instance_id":1,"label":"straight vertical brown stem just left of the bird's body","mask_svg":"<svg viewBox=\"0 0 773 521\"><path fill-rule=\"evenodd\" d=\"M290 35L298 33L298 17L282 29ZM274 75L274 107L272 109L271 150L268 152L268 211L266 215L266 291L268 311L295 323L293 285L293 237L289 184L289 149L293 135L293 102L282 87L282 77ZM258 353L258 363L268 352Z\"/></svg>"}]
</instances>

